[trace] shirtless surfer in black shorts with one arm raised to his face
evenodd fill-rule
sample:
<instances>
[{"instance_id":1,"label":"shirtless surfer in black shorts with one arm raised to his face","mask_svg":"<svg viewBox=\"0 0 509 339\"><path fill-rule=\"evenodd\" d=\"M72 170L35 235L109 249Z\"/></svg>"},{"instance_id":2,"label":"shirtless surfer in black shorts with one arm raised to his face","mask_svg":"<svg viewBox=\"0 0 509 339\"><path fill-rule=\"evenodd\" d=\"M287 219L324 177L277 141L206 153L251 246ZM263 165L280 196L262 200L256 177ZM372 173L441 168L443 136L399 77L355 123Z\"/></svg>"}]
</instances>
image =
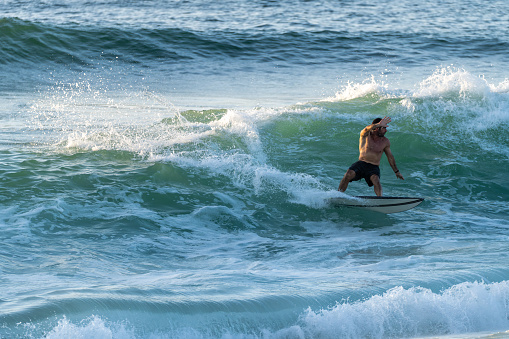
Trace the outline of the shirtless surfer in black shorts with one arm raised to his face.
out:
<instances>
[{"instance_id":1,"label":"shirtless surfer in black shorts with one arm raised to his face","mask_svg":"<svg viewBox=\"0 0 509 339\"><path fill-rule=\"evenodd\" d=\"M396 167L396 160L391 152L391 143L385 137L387 132L387 124L391 122L391 118L376 118L373 123L366 126L361 131L359 139L359 161L354 163L339 183L338 191L346 191L351 181L357 181L362 178L366 180L368 186L374 186L375 194L382 196L382 185L380 184L380 160L382 153L385 153L389 164L392 167L396 177L405 180Z\"/></svg>"}]
</instances>

